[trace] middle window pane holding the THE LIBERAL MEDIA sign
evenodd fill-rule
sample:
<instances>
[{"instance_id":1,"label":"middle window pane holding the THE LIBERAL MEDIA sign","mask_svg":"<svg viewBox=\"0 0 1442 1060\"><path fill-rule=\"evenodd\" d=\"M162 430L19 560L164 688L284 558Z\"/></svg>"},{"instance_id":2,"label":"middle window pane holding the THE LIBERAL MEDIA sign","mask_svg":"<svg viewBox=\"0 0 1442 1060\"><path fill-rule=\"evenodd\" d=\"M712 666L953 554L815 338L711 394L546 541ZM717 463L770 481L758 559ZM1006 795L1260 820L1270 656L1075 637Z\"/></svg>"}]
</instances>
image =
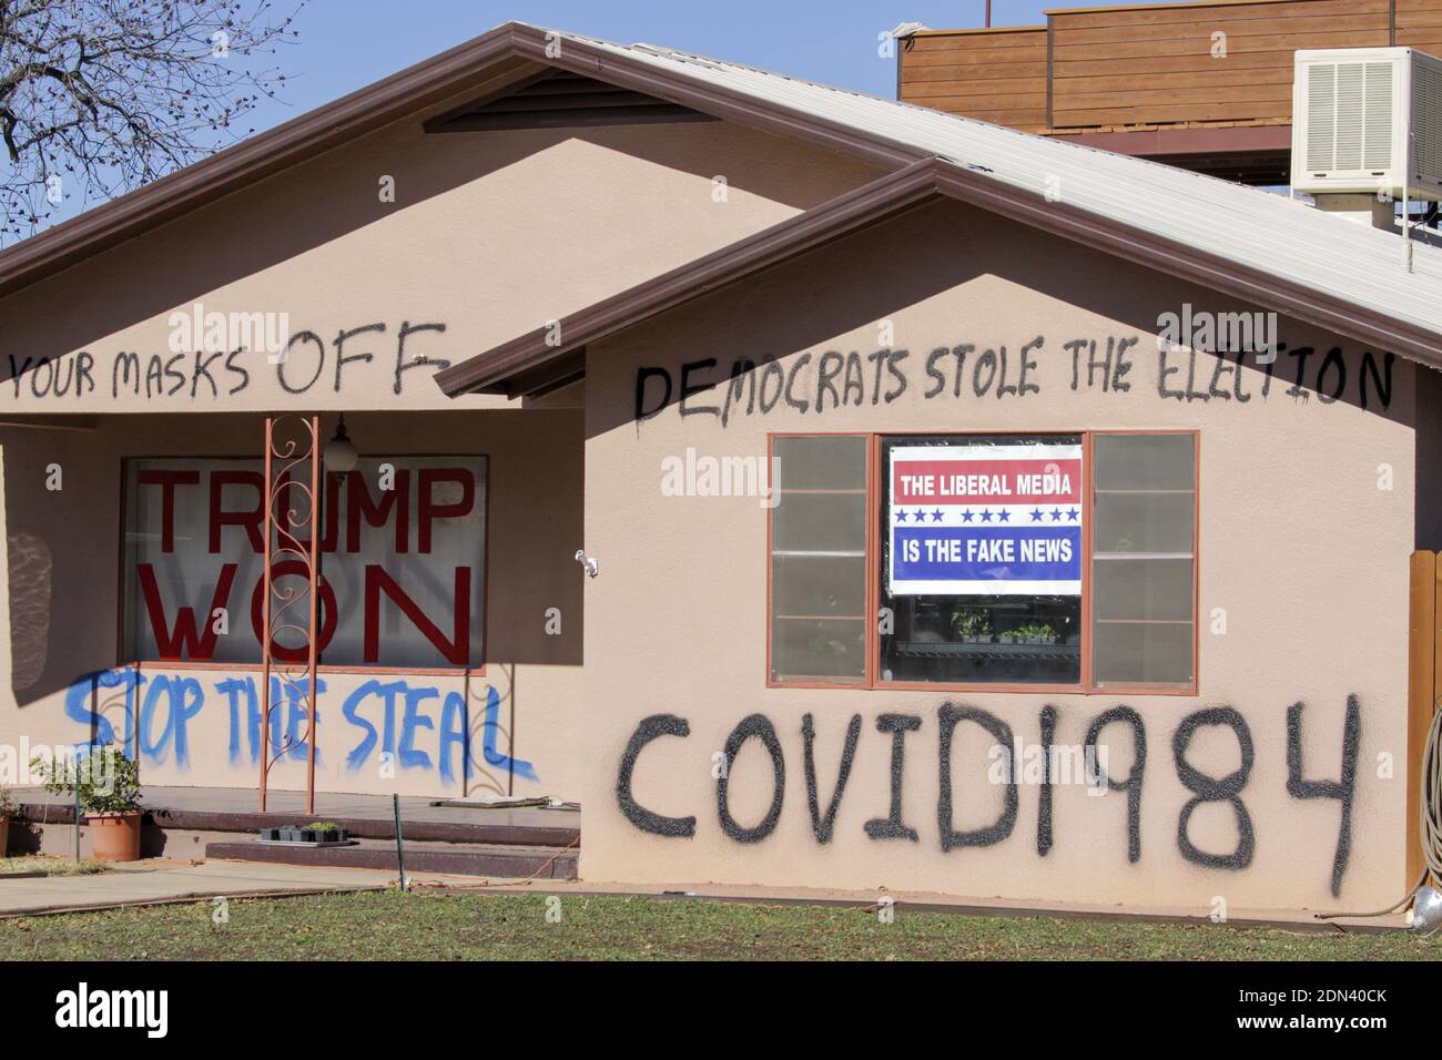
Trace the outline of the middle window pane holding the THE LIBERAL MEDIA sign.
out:
<instances>
[{"instance_id":1,"label":"middle window pane holding the THE LIBERAL MEDIA sign","mask_svg":"<svg viewBox=\"0 0 1442 1060\"><path fill-rule=\"evenodd\" d=\"M881 438L881 681L1082 681L1082 437Z\"/></svg>"}]
</instances>

